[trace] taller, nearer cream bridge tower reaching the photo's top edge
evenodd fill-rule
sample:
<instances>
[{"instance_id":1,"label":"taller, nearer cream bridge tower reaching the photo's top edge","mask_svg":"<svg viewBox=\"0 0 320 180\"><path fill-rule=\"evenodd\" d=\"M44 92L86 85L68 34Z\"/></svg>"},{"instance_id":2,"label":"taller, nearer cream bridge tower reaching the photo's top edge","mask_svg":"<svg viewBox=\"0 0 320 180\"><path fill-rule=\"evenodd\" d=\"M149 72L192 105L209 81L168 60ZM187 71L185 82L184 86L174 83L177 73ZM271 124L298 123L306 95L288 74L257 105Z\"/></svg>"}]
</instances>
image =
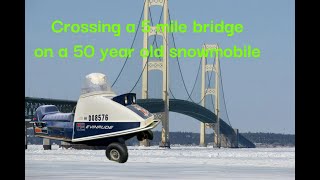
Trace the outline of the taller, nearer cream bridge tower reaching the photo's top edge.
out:
<instances>
[{"instance_id":1,"label":"taller, nearer cream bridge tower reaching the photo's top edge","mask_svg":"<svg viewBox=\"0 0 320 180\"><path fill-rule=\"evenodd\" d=\"M168 0L145 0L144 4L144 21L149 20L149 7L163 6L163 24L168 24ZM146 29L147 27L145 27ZM162 121L162 135L160 147L170 148L169 141L169 64L168 64L168 33L164 28L157 32L156 25L150 27L148 33L143 34L143 48L148 48L148 39L150 36L162 36L163 42L163 58L162 60L153 60L149 57L143 58L142 63L142 99L148 99L148 74L149 71L159 70L162 72L162 99L164 101L164 112L161 114ZM149 48L148 48L149 49ZM149 146L149 141L144 140L140 145Z\"/></svg>"}]
</instances>

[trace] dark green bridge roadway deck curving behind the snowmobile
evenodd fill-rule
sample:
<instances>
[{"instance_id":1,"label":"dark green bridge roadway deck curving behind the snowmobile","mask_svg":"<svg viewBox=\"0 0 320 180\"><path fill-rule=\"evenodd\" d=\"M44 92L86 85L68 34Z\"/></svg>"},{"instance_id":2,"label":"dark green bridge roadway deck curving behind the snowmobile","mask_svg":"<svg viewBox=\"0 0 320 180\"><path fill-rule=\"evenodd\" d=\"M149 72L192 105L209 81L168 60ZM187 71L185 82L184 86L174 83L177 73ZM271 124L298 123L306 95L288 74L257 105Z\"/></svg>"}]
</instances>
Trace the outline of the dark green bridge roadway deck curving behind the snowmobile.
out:
<instances>
[{"instance_id":1,"label":"dark green bridge roadway deck curving behind the snowmobile","mask_svg":"<svg viewBox=\"0 0 320 180\"><path fill-rule=\"evenodd\" d=\"M40 105L54 104L62 112L71 112L73 107L77 104L77 101L25 97L25 103L27 119L30 118L30 115L33 114L35 109ZM162 99L138 99L137 104L147 109L151 113L160 113L164 111L164 101ZM193 117L203 123L215 123L217 118L212 111L202 107L201 105L181 99L170 99L169 111ZM220 119L220 133L225 136L230 136L235 132L232 127ZM239 147L255 147L251 141L246 139L240 133L238 138Z\"/></svg>"}]
</instances>

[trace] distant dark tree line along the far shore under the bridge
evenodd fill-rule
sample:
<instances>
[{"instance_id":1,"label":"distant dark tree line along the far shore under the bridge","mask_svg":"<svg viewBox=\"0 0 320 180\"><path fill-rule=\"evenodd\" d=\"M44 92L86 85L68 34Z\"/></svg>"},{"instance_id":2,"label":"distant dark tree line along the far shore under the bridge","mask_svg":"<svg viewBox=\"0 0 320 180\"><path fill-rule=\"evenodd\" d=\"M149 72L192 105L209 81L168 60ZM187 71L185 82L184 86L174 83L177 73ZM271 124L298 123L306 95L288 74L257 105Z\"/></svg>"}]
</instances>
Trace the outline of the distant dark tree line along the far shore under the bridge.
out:
<instances>
[{"instance_id":1,"label":"distant dark tree line along the far shore under the bridge","mask_svg":"<svg viewBox=\"0 0 320 180\"><path fill-rule=\"evenodd\" d=\"M42 138L34 137L33 129L27 129L29 144L42 144ZM292 134L276 134L276 133L241 133L244 137L259 146L295 146L295 135ZM213 143L213 134L206 134L206 142ZM199 145L200 134L192 132L170 132L170 143L180 145ZM159 145L161 141L161 132L153 132L153 140L151 145ZM52 143L60 145L60 141L53 140ZM133 137L126 142L127 145L139 145L137 138Z\"/></svg>"}]
</instances>

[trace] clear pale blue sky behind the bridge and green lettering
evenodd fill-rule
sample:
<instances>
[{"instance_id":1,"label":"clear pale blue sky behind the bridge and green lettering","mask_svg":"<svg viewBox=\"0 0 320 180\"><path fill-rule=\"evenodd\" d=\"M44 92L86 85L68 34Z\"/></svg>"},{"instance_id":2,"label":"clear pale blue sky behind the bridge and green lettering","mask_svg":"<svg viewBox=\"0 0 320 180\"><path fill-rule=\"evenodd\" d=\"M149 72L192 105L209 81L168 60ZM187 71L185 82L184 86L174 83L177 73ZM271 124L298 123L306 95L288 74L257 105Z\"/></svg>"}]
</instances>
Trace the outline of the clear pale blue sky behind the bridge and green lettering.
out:
<instances>
[{"instance_id":1,"label":"clear pale blue sky behind the bridge and green lettering","mask_svg":"<svg viewBox=\"0 0 320 180\"><path fill-rule=\"evenodd\" d=\"M103 23L119 23L122 27L128 23L137 24L143 2L26 0L25 96L77 100L84 77L92 72L104 73L110 82L114 82L124 59L99 62L98 48L129 48L134 33L122 31L119 37L115 37L113 33L53 33L51 24L55 20L65 23L97 23L101 20ZM232 37L210 32L175 33L176 45L200 48L204 43L219 43L222 48L233 45L259 48L261 56L257 59L221 59L224 93L231 124L240 132L295 133L294 1L171 0L169 9L172 19L186 23L188 27L192 27L193 20L201 23L209 23L210 20L241 23L244 31ZM141 35L137 36L137 42L142 45ZM94 58L34 56L37 48L72 50L77 44L96 47ZM72 51L70 54L72 55ZM180 61L186 86L190 91L199 59ZM131 64L133 62L130 61ZM141 71L136 69L135 74L124 73L119 78L119 83L114 88L117 94L130 91ZM184 88L175 90L178 91L176 94L185 94ZM156 130L160 130L160 126ZM199 132L200 123L185 115L170 113L170 130Z\"/></svg>"}]
</instances>

